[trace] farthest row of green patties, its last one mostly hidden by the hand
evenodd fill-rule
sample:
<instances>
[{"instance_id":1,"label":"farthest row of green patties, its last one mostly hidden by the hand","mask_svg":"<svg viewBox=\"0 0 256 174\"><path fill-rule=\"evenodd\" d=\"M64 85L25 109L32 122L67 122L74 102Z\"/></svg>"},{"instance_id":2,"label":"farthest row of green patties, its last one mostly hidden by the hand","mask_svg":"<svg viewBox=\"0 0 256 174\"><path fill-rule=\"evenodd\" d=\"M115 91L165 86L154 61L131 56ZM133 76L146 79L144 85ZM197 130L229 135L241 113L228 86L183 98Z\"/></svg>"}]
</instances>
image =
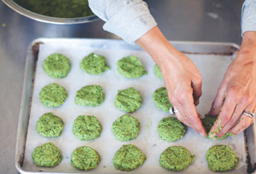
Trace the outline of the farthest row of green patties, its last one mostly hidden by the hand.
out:
<instances>
[{"instance_id":1,"label":"farthest row of green patties, its last one mostly hidden by the hand","mask_svg":"<svg viewBox=\"0 0 256 174\"><path fill-rule=\"evenodd\" d=\"M148 74L142 62L134 55L120 59L117 62L117 66L118 73L124 78L140 78ZM92 75L101 75L106 70L110 70L106 58L103 55L96 55L94 53L84 57L80 62L80 68ZM43 69L52 78L65 78L70 72L71 65L65 55L52 54L44 60ZM154 73L158 78L163 79L160 68L156 64Z\"/></svg>"}]
</instances>

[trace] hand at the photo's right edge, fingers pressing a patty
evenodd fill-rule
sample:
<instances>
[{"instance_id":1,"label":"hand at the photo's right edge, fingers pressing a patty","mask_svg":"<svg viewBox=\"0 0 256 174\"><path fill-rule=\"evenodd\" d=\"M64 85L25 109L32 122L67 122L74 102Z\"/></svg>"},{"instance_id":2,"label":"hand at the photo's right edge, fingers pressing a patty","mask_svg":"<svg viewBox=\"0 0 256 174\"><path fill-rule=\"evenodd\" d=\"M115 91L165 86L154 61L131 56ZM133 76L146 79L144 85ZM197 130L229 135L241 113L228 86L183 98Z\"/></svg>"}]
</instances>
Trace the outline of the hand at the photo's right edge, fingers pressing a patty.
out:
<instances>
[{"instance_id":1,"label":"hand at the photo's right edge, fingers pressing a patty","mask_svg":"<svg viewBox=\"0 0 256 174\"><path fill-rule=\"evenodd\" d=\"M212 102L211 115L218 115L209 136L237 135L254 121L243 111L256 110L256 32L245 32L241 49L230 64ZM236 122L239 122L236 124Z\"/></svg>"}]
</instances>

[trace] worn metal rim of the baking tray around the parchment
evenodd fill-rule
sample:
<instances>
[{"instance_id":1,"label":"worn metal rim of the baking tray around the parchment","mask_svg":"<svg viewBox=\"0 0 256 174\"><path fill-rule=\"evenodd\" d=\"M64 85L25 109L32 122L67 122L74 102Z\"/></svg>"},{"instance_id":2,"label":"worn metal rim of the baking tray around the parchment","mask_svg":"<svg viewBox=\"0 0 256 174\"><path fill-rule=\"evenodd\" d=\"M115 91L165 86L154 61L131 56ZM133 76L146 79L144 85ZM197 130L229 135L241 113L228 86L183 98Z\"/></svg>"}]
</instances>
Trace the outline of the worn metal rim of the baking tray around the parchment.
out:
<instances>
[{"instance_id":1,"label":"worn metal rim of the baking tray around the parchment","mask_svg":"<svg viewBox=\"0 0 256 174\"><path fill-rule=\"evenodd\" d=\"M26 56L26 70L25 70L25 78L23 85L23 94L22 101L20 105L20 116L19 116L19 124L18 124L18 132L17 132L17 143L16 143L16 151L15 151L15 166L20 173L42 173L44 171L26 171L23 168L24 164L24 155L26 150L26 136L27 129L30 119L31 105L32 105L32 94L34 90L34 80L35 73L37 69L37 61L38 61L38 49L40 44L72 44L72 46L83 46L94 49L125 49L125 50L142 50L137 45L126 44L122 40L113 40L113 39L73 39L73 38L38 38L32 41L32 44L29 45ZM225 56L229 57L231 60L236 58L236 54L238 53L240 47L236 44L230 43L195 43L195 42L171 42L171 44L183 52L186 55L213 55L213 56ZM217 70L218 71L218 70ZM244 137L244 151L246 154L245 164L247 173L256 173L256 147L255 144L255 122L247 131L243 132ZM77 173L80 173L78 171ZM86 173L90 173L94 171L84 171ZM116 173L118 171L114 171ZM120 171L122 172L122 171ZM170 173L171 171L169 171ZM232 172L232 171L230 171ZM44 173L51 173L46 171ZM66 172L58 172L55 173L66 173ZM69 172L76 173L76 172ZM109 172L108 172L109 173ZM123 173L123 172L122 172ZM180 171L179 173L183 173Z\"/></svg>"}]
</instances>

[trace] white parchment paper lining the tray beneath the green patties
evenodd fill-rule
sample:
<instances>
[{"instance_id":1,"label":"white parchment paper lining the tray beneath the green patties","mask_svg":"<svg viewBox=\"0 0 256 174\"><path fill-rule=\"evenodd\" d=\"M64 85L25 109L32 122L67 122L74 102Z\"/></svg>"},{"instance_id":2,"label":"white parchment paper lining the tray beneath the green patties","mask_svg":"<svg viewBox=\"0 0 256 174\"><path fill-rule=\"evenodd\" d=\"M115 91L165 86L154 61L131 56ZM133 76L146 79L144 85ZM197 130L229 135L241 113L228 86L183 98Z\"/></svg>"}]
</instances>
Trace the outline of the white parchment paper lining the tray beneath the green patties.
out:
<instances>
[{"instance_id":1,"label":"white parchment paper lining the tray beneath the green patties","mask_svg":"<svg viewBox=\"0 0 256 174\"><path fill-rule=\"evenodd\" d=\"M79 68L80 61L85 55L94 52L104 55L107 58L111 71L107 71L100 76L94 76L84 73ZM71 61L72 68L67 78L54 79L50 78L42 68L44 59L52 53L60 53L66 55ZM117 73L116 62L127 56L136 55L143 63L148 75L137 79L126 79ZM226 68L232 61L228 55L188 55L199 68L203 78L201 103L197 107L199 113L204 115L210 109L214 96L216 95L218 85L224 76ZM61 107L49 108L39 101L40 90L48 84L60 84L67 90L67 101ZM74 104L74 98L77 90L85 85L98 84L103 88L105 94L105 102L99 107L84 107ZM154 90L164 86L163 80L154 75L154 61L144 51L137 50L121 50L121 49L94 49L88 46L78 44L61 44L55 42L53 44L41 44L38 55L38 67L36 70L36 79L32 96L32 109L28 125L26 138L26 151L23 163L25 171L58 171L58 172L90 172L90 173L126 173L118 171L113 166L113 155L123 144L135 144L143 150L147 156L145 163L134 171L129 173L172 173L160 167L160 154L169 146L183 146L188 148L191 154L195 154L195 162L190 165L183 173L212 173L207 168L205 154L207 149L216 144L230 145L241 160L235 170L230 173L247 173L246 172L246 154L244 137L241 133L238 136L228 137L220 141L212 141L198 135L193 129L188 129L185 136L177 142L164 142L157 133L157 126L160 119L171 116L169 113L157 109L152 100ZM141 131L135 140L129 142L119 142L113 136L112 124L125 112L120 111L113 106L114 97L117 90L124 90L134 87L139 90L143 96L143 106L136 112L131 113L137 117L141 123ZM44 113L52 112L61 117L64 121L64 129L62 135L56 138L46 138L40 136L36 130L36 122ZM79 115L94 115L102 124L102 135L96 140L81 142L73 135L73 120ZM32 150L46 142L53 142L60 148L63 159L60 165L54 168L38 167L32 162ZM102 161L91 171L79 171L70 164L71 154L75 148L79 146L89 146L96 149L101 155Z\"/></svg>"}]
</instances>

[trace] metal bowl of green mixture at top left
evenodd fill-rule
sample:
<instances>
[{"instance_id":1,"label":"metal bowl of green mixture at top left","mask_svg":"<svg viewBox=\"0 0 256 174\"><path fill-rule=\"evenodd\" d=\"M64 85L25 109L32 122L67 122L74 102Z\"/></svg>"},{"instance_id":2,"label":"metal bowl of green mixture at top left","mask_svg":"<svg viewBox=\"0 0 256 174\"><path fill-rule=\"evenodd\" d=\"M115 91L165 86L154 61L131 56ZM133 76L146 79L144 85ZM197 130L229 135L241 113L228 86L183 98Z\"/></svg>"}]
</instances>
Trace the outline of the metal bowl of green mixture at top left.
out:
<instances>
[{"instance_id":1,"label":"metal bowl of green mixture at top left","mask_svg":"<svg viewBox=\"0 0 256 174\"><path fill-rule=\"evenodd\" d=\"M98 20L88 0L3 0L9 8L33 20L52 24L79 24Z\"/></svg>"}]
</instances>

